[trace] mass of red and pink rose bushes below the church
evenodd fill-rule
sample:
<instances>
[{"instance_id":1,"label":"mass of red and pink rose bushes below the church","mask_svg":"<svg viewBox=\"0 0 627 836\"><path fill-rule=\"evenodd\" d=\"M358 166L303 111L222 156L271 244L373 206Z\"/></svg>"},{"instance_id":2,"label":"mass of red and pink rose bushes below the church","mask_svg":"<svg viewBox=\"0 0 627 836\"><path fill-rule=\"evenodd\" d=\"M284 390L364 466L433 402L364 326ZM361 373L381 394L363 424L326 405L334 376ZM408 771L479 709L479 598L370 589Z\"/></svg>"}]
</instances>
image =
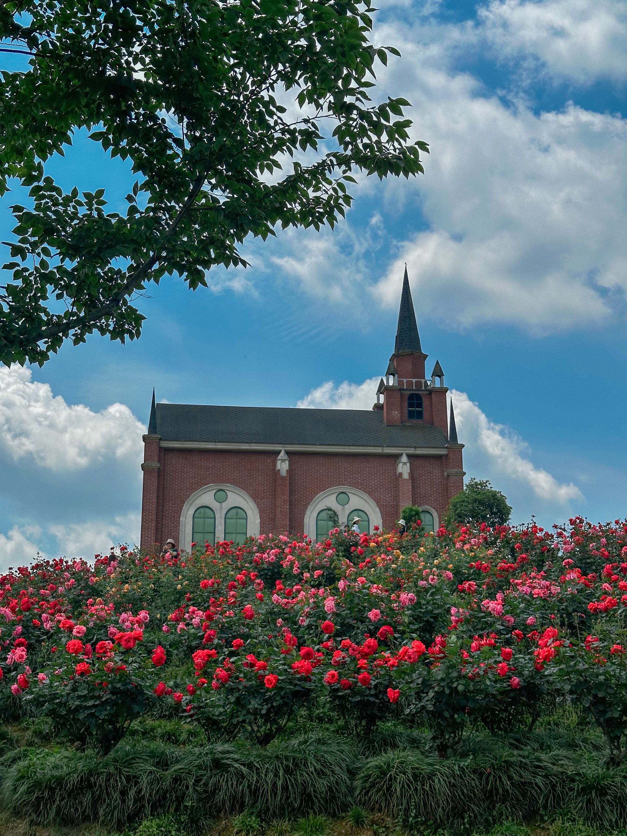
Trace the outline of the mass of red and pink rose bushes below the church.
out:
<instances>
[{"instance_id":1,"label":"mass of red and pink rose bushes below the church","mask_svg":"<svg viewBox=\"0 0 627 836\"><path fill-rule=\"evenodd\" d=\"M304 707L352 733L529 728L579 706L624 758L627 523L335 530L0 577L0 691L101 751L151 701L268 742ZM2 696L2 694L0 694Z\"/></svg>"}]
</instances>

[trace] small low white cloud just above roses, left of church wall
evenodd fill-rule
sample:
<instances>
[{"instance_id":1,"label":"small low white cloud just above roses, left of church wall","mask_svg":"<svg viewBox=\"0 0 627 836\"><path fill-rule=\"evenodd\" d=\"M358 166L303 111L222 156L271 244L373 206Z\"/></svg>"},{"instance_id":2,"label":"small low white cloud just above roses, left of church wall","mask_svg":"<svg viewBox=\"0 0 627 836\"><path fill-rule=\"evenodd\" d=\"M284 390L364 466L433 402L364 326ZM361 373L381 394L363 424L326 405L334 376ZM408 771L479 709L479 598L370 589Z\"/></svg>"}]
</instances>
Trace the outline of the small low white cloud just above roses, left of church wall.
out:
<instances>
[{"instance_id":1,"label":"small low white cloud just above roses, left of church wall","mask_svg":"<svg viewBox=\"0 0 627 836\"><path fill-rule=\"evenodd\" d=\"M57 538L59 554L91 560L94 554L108 553L118 543L133 546L139 542L140 522L140 514L130 513L112 520L50 525L48 531Z\"/></svg>"}]
</instances>

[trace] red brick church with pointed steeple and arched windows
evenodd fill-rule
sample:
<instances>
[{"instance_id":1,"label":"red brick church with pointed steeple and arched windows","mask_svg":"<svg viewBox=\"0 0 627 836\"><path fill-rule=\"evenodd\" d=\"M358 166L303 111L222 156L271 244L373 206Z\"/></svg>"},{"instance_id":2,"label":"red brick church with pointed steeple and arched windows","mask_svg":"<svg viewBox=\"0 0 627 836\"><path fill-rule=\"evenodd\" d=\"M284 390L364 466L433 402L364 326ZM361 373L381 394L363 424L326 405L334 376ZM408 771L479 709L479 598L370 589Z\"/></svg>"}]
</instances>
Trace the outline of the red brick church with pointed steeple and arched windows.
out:
<instances>
[{"instance_id":1,"label":"red brick church with pointed steeple and arched windows","mask_svg":"<svg viewBox=\"0 0 627 836\"><path fill-rule=\"evenodd\" d=\"M305 533L335 523L393 528L406 505L437 530L463 488L441 365L427 355L403 278L394 354L372 410L157 404L152 397L141 469L141 546L175 538L233 540Z\"/></svg>"}]
</instances>

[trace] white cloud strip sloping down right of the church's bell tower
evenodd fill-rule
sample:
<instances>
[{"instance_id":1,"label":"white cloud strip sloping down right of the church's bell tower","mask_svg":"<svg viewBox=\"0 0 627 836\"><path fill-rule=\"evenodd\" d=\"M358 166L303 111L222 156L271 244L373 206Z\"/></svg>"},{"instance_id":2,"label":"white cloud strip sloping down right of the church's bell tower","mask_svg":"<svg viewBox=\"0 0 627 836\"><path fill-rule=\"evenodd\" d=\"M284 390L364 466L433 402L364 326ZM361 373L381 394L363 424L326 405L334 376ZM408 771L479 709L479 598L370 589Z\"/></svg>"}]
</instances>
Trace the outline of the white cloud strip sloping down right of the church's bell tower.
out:
<instances>
[{"instance_id":1,"label":"white cloud strip sloping down right of the church's bell tower","mask_svg":"<svg viewBox=\"0 0 627 836\"><path fill-rule=\"evenodd\" d=\"M466 392L451 390L451 398L458 436L475 458L485 457L491 470L526 484L538 499L564 504L584 498L572 482L560 483L534 466L524 455L529 453L527 443L509 427L490 421Z\"/></svg>"}]
</instances>

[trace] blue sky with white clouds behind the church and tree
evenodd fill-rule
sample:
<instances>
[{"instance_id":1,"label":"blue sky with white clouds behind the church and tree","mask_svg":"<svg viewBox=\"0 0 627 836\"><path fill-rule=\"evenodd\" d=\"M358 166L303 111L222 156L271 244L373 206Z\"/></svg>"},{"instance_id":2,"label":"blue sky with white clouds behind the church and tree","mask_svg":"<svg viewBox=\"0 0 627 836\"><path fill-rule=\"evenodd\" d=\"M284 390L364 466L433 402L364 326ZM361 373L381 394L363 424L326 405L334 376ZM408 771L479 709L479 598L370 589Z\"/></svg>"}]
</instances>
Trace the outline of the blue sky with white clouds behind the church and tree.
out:
<instances>
[{"instance_id":1,"label":"blue sky with white clouds behind the church and tree","mask_svg":"<svg viewBox=\"0 0 627 836\"><path fill-rule=\"evenodd\" d=\"M402 58L378 95L413 104L426 175L360 181L334 232L247 242L251 268L212 271L209 290L148 288L139 342L93 336L0 370L0 565L138 536L153 385L174 402L368 408L405 262L468 475L506 492L515 522L625 516L627 5L380 5L374 39ZM48 171L106 186L112 206L131 182L84 135ZM0 202L3 240L17 199Z\"/></svg>"}]
</instances>

